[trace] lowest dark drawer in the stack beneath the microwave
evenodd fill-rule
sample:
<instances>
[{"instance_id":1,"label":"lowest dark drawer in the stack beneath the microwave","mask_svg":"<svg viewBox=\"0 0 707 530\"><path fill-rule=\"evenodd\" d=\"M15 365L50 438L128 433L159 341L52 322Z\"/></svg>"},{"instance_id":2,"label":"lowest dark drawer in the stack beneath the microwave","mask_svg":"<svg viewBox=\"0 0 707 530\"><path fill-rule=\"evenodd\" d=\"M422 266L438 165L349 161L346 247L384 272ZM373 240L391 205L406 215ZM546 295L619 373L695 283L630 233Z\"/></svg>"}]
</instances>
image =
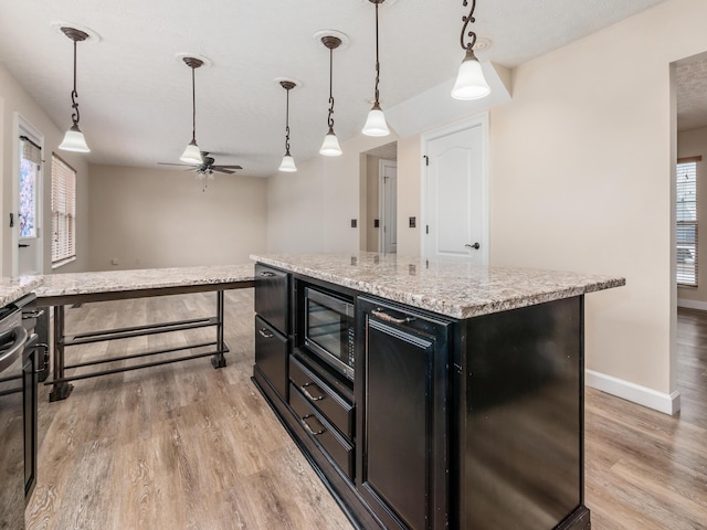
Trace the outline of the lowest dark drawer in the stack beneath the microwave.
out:
<instances>
[{"instance_id":1,"label":"lowest dark drawer in the stack beneath the microwave","mask_svg":"<svg viewBox=\"0 0 707 530\"><path fill-rule=\"evenodd\" d=\"M318 442L341 470L354 480L354 447L336 428L331 427L308 400L289 383L289 406L293 407L305 431Z\"/></svg>"}]
</instances>

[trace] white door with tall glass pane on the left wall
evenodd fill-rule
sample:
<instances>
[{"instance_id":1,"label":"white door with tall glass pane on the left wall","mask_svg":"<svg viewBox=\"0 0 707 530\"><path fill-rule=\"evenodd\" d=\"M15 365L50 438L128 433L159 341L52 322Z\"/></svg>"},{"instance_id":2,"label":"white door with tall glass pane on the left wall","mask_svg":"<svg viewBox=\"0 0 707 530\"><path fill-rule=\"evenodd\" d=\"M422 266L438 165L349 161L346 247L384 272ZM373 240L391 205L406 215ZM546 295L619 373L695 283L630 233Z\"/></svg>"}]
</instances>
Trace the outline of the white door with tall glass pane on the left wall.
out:
<instances>
[{"instance_id":1,"label":"white door with tall glass pane on the left wall","mask_svg":"<svg viewBox=\"0 0 707 530\"><path fill-rule=\"evenodd\" d=\"M15 276L42 273L42 140L30 124L18 116L18 151L12 212Z\"/></svg>"}]
</instances>

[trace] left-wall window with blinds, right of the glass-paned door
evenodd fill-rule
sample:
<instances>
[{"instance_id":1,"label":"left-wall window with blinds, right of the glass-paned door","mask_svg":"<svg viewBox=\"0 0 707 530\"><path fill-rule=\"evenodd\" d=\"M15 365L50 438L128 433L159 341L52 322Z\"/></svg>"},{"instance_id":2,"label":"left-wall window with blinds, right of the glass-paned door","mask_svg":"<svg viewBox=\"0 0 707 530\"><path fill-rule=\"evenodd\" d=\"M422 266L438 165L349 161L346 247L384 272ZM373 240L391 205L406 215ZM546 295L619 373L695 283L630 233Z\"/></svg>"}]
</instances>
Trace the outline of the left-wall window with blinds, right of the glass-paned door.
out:
<instances>
[{"instance_id":1,"label":"left-wall window with blinds, right of the glass-paned door","mask_svg":"<svg viewBox=\"0 0 707 530\"><path fill-rule=\"evenodd\" d=\"M76 257L76 171L52 153L52 265Z\"/></svg>"}]
</instances>

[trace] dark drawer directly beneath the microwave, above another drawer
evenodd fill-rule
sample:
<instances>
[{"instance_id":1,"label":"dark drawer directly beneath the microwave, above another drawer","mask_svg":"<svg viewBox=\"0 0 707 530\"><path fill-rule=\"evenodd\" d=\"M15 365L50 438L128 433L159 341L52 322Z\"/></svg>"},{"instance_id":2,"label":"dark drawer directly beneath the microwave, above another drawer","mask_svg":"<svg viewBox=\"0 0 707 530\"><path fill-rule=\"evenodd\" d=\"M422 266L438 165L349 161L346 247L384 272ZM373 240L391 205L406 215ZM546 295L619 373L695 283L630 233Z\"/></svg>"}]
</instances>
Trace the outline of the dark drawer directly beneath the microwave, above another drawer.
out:
<instances>
[{"instance_id":1,"label":"dark drawer directly beneath the microwave, above another drawer","mask_svg":"<svg viewBox=\"0 0 707 530\"><path fill-rule=\"evenodd\" d=\"M354 441L354 405L294 358L289 359L289 380L329 423Z\"/></svg>"}]
</instances>

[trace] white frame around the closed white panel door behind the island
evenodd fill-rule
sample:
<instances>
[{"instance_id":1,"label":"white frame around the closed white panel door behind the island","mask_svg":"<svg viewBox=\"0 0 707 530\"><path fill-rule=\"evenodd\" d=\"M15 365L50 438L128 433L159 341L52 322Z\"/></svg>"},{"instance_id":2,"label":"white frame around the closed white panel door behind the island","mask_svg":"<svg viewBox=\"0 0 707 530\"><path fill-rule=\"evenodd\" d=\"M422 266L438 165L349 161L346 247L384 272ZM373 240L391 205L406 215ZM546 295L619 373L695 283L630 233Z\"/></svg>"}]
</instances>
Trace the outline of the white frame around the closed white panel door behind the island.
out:
<instances>
[{"instance_id":1,"label":"white frame around the closed white panel door behind the island","mask_svg":"<svg viewBox=\"0 0 707 530\"><path fill-rule=\"evenodd\" d=\"M471 118L464 118L454 124L439 127L436 129L423 132L420 136L420 152L422 157L420 159L420 255L428 257L430 250L428 248L428 237L425 226L429 223L428 219L428 144L437 138L454 135L463 130L472 129L475 127L482 128L482 233L484 234L485 244L481 248L482 263L486 266L490 262L490 209L489 209L489 166L488 166L488 113L477 114Z\"/></svg>"}]
</instances>

